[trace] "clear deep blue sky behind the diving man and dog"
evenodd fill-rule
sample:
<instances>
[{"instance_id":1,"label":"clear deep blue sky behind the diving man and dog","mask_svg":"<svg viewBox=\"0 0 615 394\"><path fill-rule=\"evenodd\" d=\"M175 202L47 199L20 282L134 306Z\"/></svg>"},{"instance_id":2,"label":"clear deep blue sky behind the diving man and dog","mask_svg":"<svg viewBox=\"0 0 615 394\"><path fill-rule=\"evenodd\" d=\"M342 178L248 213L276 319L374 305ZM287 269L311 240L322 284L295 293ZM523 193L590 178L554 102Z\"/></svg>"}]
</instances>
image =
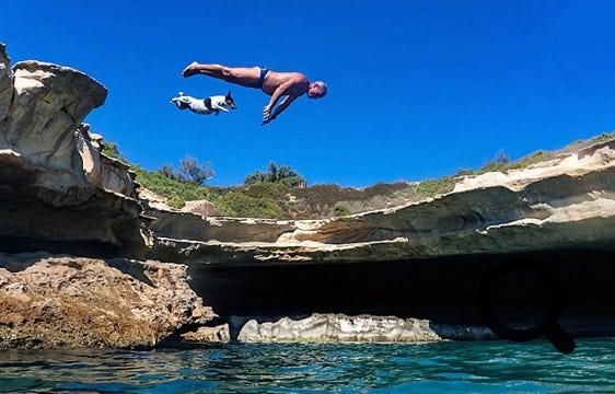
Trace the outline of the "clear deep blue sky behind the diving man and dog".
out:
<instances>
[{"instance_id":1,"label":"clear deep blue sky behind the diving man and dog","mask_svg":"<svg viewBox=\"0 0 615 394\"><path fill-rule=\"evenodd\" d=\"M85 120L146 169L194 157L230 186L274 160L309 184L362 187L615 129L614 19L608 0L28 0L2 4L0 42L13 62L105 85ZM267 95L182 79L193 60L301 71L329 92L260 126ZM218 117L170 103L228 90L239 109Z\"/></svg>"}]
</instances>

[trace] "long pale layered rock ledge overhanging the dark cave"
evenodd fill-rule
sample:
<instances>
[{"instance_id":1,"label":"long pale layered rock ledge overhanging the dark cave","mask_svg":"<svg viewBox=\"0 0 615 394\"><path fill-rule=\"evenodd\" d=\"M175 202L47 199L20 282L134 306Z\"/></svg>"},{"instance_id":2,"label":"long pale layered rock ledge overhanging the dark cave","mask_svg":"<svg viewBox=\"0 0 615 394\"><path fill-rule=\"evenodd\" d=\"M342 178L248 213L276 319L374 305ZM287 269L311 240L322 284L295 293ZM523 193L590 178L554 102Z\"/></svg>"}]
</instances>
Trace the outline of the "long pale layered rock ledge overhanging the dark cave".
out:
<instances>
[{"instance_id":1,"label":"long pale layered rock ledge overhanging the dark cave","mask_svg":"<svg viewBox=\"0 0 615 394\"><path fill-rule=\"evenodd\" d=\"M615 141L525 170L467 177L452 193L396 208L313 221L217 222L219 229L199 216L159 215L152 229L161 237L152 257L266 265L613 251Z\"/></svg>"}]
</instances>

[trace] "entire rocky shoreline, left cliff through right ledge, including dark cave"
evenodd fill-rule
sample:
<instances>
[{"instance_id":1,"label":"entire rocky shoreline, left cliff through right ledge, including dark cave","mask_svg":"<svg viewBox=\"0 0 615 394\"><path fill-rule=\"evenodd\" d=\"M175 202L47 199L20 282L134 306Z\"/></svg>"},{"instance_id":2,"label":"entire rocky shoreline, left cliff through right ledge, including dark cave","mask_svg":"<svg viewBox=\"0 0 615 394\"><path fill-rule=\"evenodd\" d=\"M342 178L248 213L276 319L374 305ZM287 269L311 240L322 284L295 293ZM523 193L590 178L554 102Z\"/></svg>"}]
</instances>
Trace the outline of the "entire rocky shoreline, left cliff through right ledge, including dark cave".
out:
<instances>
[{"instance_id":1,"label":"entire rocky shoreline, left cliff through right ledge, including dark cave","mask_svg":"<svg viewBox=\"0 0 615 394\"><path fill-rule=\"evenodd\" d=\"M106 94L0 44L0 348L492 339L476 292L511 259L555 273L571 334L615 334L615 140L388 209L213 218L101 153Z\"/></svg>"}]
</instances>

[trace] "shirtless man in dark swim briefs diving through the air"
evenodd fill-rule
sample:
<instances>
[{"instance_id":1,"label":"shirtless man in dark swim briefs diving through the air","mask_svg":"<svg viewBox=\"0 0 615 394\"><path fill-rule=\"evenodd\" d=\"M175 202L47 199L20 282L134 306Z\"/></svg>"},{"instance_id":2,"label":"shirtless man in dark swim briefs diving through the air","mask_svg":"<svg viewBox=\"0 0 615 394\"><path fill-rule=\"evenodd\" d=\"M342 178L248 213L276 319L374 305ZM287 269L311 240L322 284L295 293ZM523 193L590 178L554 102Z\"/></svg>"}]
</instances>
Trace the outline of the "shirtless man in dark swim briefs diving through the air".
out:
<instances>
[{"instance_id":1,"label":"shirtless man in dark swim briefs diving through the air","mask_svg":"<svg viewBox=\"0 0 615 394\"><path fill-rule=\"evenodd\" d=\"M196 61L188 65L182 72L187 78L204 74L218 78L227 82L246 88L260 89L271 96L269 103L263 109L263 124L278 117L297 97L308 94L310 99L321 99L327 94L327 85L322 81L310 82L300 72L277 72L260 67L227 67L221 65L201 65ZM281 96L285 99L276 107ZM271 113L272 111L272 113Z\"/></svg>"}]
</instances>

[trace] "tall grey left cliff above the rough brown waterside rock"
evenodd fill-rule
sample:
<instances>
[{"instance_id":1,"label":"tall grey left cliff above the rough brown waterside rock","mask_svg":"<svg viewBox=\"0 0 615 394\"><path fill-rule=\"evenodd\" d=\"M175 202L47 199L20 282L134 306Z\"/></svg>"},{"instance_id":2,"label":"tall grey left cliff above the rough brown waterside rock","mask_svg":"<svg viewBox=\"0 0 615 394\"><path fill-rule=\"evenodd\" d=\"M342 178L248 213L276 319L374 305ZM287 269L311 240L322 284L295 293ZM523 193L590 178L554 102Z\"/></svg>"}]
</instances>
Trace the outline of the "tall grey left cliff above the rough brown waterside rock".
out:
<instances>
[{"instance_id":1,"label":"tall grey left cliff above the rough brown waterside rock","mask_svg":"<svg viewBox=\"0 0 615 394\"><path fill-rule=\"evenodd\" d=\"M101 155L82 124L106 95L71 68L21 61L11 69L0 46L0 239L143 255L142 208L128 167Z\"/></svg>"}]
</instances>

